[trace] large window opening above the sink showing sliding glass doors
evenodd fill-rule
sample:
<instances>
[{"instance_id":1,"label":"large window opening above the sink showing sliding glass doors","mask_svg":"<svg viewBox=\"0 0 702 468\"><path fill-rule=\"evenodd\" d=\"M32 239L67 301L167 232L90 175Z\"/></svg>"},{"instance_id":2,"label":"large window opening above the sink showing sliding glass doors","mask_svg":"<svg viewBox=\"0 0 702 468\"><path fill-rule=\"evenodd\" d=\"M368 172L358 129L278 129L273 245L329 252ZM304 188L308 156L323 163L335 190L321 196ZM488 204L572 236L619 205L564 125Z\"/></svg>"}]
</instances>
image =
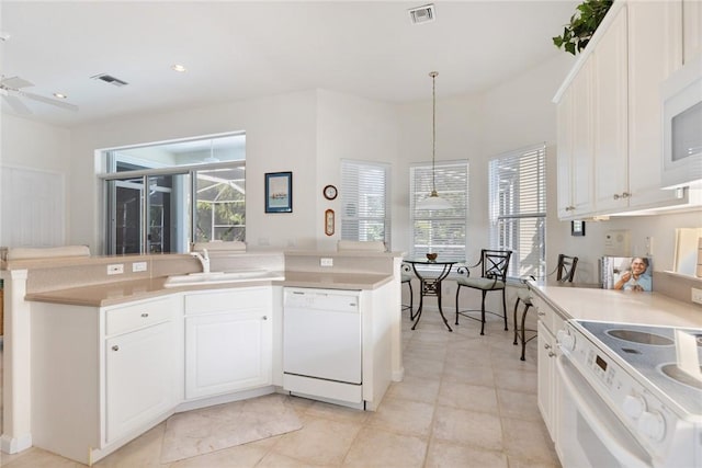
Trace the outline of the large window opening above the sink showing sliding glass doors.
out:
<instances>
[{"instance_id":1,"label":"large window opening above the sink showing sliding glass doors","mask_svg":"<svg viewBox=\"0 0 702 468\"><path fill-rule=\"evenodd\" d=\"M106 254L246 239L245 134L105 151Z\"/></svg>"}]
</instances>

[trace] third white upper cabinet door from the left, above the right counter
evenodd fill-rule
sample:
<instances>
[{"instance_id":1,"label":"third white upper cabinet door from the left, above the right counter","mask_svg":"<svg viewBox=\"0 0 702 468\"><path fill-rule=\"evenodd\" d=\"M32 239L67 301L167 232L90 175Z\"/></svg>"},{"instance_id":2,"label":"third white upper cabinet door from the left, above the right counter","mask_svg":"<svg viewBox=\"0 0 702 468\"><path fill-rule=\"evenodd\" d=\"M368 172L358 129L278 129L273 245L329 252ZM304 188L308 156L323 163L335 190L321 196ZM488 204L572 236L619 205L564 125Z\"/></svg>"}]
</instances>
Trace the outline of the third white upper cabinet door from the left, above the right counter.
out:
<instances>
[{"instance_id":1,"label":"third white upper cabinet door from the left, above the right counter","mask_svg":"<svg viewBox=\"0 0 702 468\"><path fill-rule=\"evenodd\" d=\"M626 4L592 54L595 61L595 204L598 213L629 206Z\"/></svg>"}]
</instances>

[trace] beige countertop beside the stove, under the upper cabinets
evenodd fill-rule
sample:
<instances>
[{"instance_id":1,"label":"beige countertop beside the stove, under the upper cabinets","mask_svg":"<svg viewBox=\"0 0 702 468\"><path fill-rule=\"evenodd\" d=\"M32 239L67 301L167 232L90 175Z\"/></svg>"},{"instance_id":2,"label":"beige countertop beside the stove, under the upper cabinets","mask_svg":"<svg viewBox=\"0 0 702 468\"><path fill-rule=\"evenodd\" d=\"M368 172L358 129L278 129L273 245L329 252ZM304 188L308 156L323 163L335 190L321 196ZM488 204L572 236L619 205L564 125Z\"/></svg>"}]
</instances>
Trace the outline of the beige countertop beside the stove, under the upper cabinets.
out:
<instances>
[{"instance_id":1,"label":"beige countertop beside the stove, under the upper cabinets","mask_svg":"<svg viewBox=\"0 0 702 468\"><path fill-rule=\"evenodd\" d=\"M702 306L659 293L530 284L542 299L568 319L702 328Z\"/></svg>"}]
</instances>

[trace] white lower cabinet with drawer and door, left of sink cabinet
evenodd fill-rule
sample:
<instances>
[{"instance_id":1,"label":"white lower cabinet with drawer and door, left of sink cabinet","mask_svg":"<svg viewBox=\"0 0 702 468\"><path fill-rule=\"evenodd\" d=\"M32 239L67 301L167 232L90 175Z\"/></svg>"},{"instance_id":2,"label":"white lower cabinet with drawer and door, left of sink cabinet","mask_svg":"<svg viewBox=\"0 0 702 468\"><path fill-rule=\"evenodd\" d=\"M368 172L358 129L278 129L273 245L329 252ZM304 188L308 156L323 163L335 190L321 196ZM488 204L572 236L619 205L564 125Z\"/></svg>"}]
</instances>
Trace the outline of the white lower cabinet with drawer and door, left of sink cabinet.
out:
<instances>
[{"instance_id":1,"label":"white lower cabinet with drawer and door, left of sink cabinet","mask_svg":"<svg viewBox=\"0 0 702 468\"><path fill-rule=\"evenodd\" d=\"M182 400L181 297L32 305L33 445L90 465Z\"/></svg>"}]
</instances>

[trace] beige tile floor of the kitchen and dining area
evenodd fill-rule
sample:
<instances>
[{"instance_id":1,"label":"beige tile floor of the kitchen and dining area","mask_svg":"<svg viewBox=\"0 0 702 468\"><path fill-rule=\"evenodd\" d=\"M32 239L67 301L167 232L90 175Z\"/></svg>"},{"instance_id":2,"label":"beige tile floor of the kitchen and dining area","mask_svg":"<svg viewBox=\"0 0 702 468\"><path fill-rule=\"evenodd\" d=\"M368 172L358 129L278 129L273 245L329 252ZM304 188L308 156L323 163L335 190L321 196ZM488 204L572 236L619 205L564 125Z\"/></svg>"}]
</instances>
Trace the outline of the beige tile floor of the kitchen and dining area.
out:
<instances>
[{"instance_id":1,"label":"beige tile floor of the kitchen and dining area","mask_svg":"<svg viewBox=\"0 0 702 468\"><path fill-rule=\"evenodd\" d=\"M477 321L461 323L450 333L437 312L426 311L411 331L404 317L406 376L376 412L291 397L299 431L161 465L161 423L94 466L559 467L536 407L536 341L521 362L500 321L489 321L485 336ZM82 467L34 447L1 454L0 466Z\"/></svg>"}]
</instances>

